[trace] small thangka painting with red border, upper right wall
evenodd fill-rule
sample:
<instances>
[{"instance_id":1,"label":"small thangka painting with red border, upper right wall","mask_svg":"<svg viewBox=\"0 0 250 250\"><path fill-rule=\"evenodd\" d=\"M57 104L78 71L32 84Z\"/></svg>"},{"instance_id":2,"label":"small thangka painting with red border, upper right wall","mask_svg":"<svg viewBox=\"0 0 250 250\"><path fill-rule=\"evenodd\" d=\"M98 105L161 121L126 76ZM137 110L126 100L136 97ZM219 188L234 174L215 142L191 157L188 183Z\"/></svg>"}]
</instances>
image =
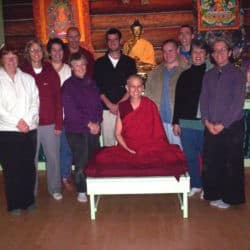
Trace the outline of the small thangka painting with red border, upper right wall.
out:
<instances>
[{"instance_id":1,"label":"small thangka painting with red border, upper right wall","mask_svg":"<svg viewBox=\"0 0 250 250\"><path fill-rule=\"evenodd\" d=\"M238 0L197 0L198 31L238 29Z\"/></svg>"}]
</instances>

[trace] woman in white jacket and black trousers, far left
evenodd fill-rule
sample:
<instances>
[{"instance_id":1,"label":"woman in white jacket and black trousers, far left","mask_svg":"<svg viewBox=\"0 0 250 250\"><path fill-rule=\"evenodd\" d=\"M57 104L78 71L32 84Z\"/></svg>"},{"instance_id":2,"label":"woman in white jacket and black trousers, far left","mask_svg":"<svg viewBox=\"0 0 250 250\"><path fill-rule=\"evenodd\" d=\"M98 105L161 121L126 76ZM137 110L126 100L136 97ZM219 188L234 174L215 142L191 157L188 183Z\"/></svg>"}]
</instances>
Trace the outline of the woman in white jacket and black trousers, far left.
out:
<instances>
[{"instance_id":1,"label":"woman in white jacket and black trousers, far left","mask_svg":"<svg viewBox=\"0 0 250 250\"><path fill-rule=\"evenodd\" d=\"M0 164L7 209L19 215L34 210L36 129L39 96L32 76L18 68L17 51L0 51Z\"/></svg>"}]
</instances>

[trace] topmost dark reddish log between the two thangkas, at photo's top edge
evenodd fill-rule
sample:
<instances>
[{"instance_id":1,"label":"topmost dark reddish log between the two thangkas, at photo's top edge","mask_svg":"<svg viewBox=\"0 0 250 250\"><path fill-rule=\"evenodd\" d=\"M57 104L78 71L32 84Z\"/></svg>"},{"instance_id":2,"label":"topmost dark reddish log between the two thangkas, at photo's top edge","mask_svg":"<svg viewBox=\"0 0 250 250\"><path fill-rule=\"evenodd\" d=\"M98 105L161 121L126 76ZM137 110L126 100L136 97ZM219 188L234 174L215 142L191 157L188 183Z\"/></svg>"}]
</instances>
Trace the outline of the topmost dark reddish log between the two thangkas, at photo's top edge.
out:
<instances>
[{"instance_id":1,"label":"topmost dark reddish log between the two thangkas, at photo's top edge","mask_svg":"<svg viewBox=\"0 0 250 250\"><path fill-rule=\"evenodd\" d=\"M137 13L154 11L192 10L192 0L150 0L150 4L141 4L141 0L130 0L123 4L117 0L90 1L90 14Z\"/></svg>"}]
</instances>

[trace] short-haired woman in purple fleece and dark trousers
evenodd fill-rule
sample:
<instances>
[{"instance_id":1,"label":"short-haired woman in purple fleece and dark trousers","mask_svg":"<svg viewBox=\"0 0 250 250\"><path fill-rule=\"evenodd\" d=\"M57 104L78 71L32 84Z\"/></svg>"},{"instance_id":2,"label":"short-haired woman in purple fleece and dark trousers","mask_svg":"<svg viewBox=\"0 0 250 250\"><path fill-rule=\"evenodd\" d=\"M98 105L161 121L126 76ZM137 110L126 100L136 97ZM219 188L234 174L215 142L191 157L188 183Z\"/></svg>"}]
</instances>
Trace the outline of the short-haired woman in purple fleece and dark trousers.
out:
<instances>
[{"instance_id":1,"label":"short-haired woman in purple fleece and dark trousers","mask_svg":"<svg viewBox=\"0 0 250 250\"><path fill-rule=\"evenodd\" d=\"M77 200L86 202L83 170L90 155L99 147L102 105L95 82L86 75L86 58L80 53L74 53L69 61L72 76L64 82L62 88L64 126L75 161Z\"/></svg>"}]
</instances>

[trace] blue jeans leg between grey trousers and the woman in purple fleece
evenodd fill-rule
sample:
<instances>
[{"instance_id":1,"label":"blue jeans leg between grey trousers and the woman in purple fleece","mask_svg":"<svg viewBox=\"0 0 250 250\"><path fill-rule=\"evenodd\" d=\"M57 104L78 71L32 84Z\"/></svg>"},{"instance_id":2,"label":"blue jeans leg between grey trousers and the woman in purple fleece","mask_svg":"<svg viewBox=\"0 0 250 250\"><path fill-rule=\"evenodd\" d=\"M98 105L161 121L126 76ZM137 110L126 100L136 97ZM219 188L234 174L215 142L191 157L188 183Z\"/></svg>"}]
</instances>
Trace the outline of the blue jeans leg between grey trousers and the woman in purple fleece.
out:
<instances>
[{"instance_id":1,"label":"blue jeans leg between grey trousers and the woman in purple fleece","mask_svg":"<svg viewBox=\"0 0 250 250\"><path fill-rule=\"evenodd\" d=\"M70 177L72 166L72 153L66 138L65 129L62 130L60 138L60 168L61 177L67 179Z\"/></svg>"}]
</instances>

